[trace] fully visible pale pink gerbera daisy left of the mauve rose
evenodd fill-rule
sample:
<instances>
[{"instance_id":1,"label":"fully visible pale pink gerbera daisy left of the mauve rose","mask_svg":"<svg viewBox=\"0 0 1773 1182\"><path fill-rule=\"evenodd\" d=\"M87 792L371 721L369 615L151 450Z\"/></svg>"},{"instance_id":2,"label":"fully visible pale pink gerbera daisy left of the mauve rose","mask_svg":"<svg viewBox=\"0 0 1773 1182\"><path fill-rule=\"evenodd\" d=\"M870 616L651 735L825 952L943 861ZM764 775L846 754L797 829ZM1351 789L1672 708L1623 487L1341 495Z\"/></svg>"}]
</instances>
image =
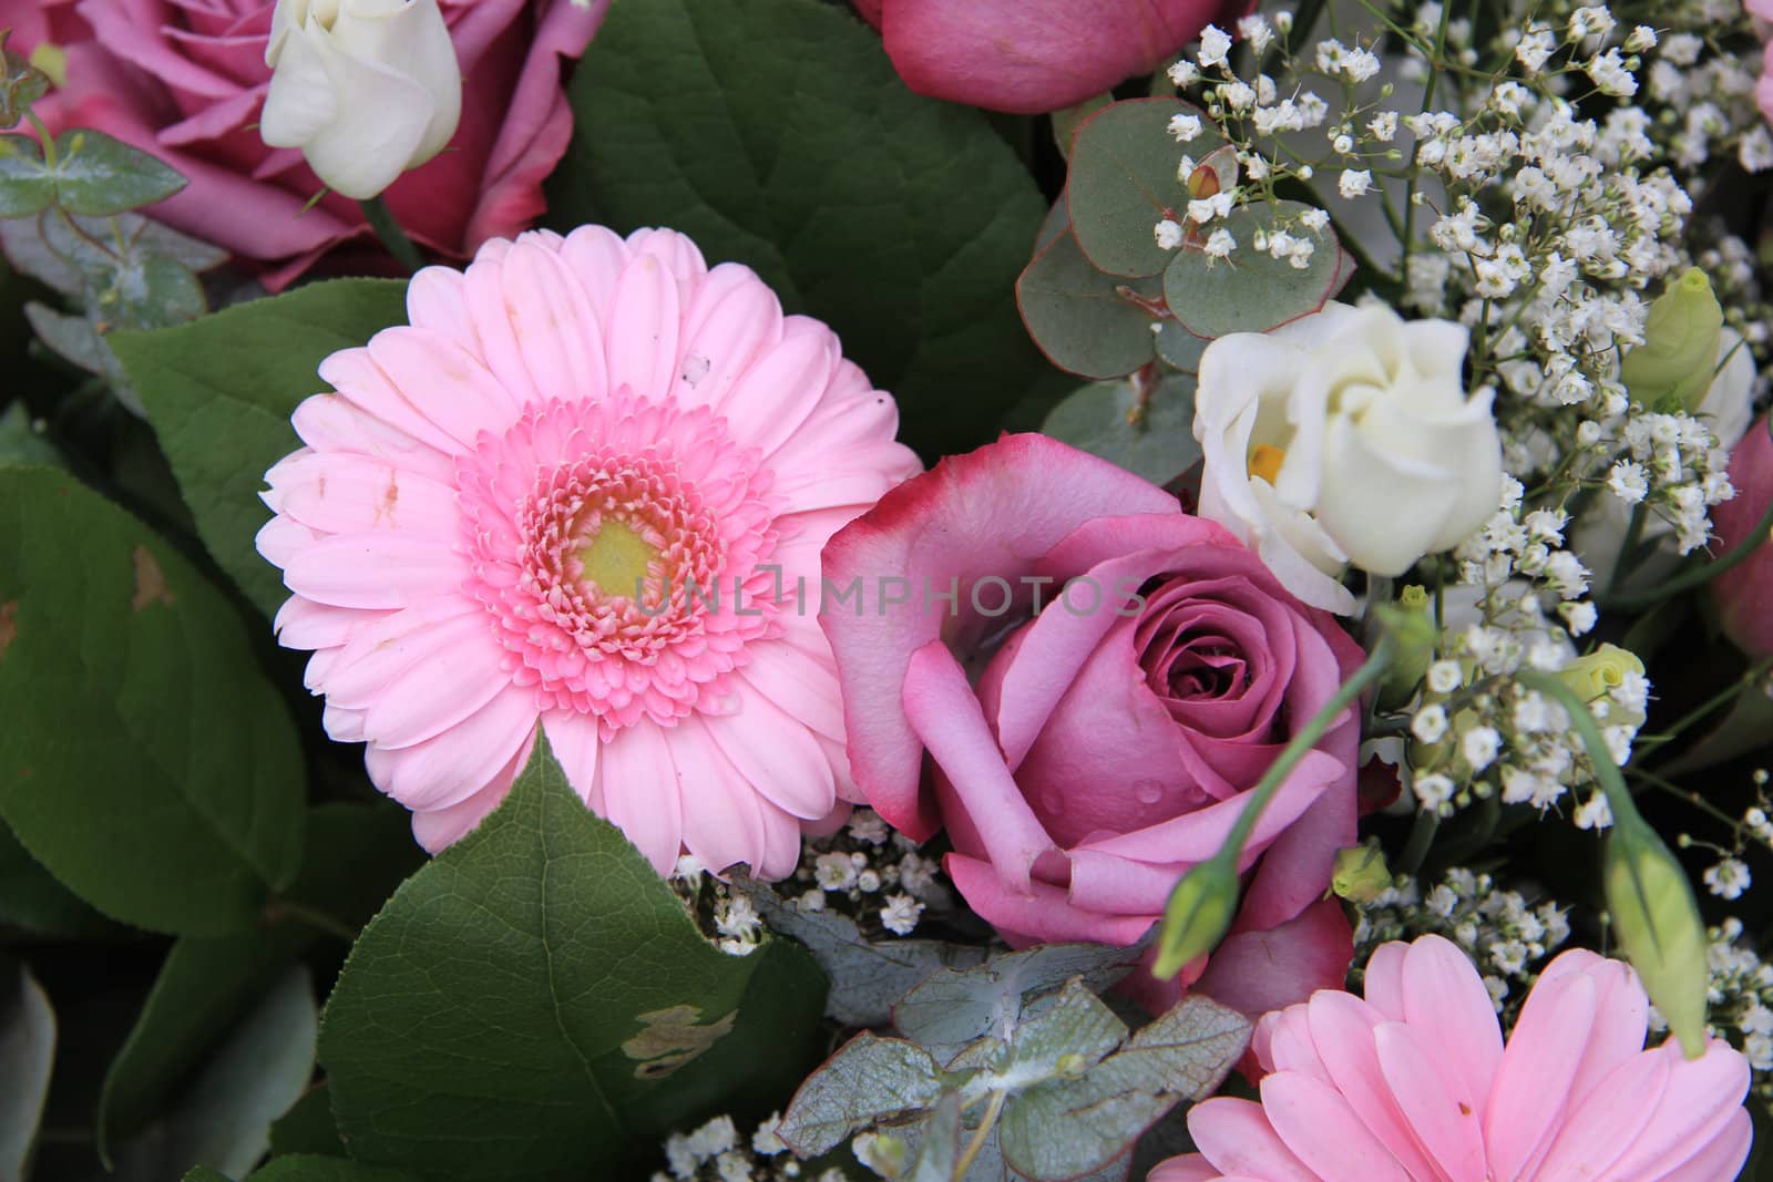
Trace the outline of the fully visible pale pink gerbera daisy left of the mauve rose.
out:
<instances>
[{"instance_id":1,"label":"fully visible pale pink gerbera daisy left of the mauve rose","mask_svg":"<svg viewBox=\"0 0 1773 1182\"><path fill-rule=\"evenodd\" d=\"M333 739L441 849L528 758L668 870L785 875L858 799L819 549L917 470L821 323L690 239L603 227L420 271L326 358L259 551ZM812 592L801 594L810 583Z\"/></svg>"}]
</instances>

